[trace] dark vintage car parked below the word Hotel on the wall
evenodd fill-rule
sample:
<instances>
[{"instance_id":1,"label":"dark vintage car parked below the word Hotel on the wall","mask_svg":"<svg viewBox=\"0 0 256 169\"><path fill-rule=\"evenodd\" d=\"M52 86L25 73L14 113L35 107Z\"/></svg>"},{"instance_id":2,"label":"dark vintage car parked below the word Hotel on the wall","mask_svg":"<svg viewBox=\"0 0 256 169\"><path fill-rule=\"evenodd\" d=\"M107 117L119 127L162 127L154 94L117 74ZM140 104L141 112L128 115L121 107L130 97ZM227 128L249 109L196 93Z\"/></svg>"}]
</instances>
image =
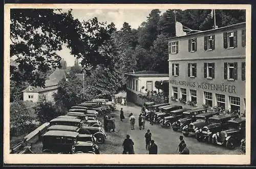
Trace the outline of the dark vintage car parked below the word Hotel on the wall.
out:
<instances>
[{"instance_id":1,"label":"dark vintage car parked below the word Hotel on the wall","mask_svg":"<svg viewBox=\"0 0 256 169\"><path fill-rule=\"evenodd\" d=\"M178 110L173 110L170 112L170 116L164 117L163 119L160 120L160 124L162 127L167 127L170 128L172 127L172 124L176 122L178 119L182 118L183 112L191 110L188 108L183 108L183 109L178 109Z\"/></svg>"}]
</instances>

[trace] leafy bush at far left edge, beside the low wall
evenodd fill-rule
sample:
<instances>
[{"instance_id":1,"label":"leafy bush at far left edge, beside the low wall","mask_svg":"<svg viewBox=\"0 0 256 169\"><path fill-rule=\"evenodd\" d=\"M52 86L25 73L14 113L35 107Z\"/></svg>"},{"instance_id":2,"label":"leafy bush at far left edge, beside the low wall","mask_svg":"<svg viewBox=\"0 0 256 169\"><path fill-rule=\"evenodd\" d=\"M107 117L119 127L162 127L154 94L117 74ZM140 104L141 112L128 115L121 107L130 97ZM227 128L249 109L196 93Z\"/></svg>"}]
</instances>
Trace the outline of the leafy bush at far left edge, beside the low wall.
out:
<instances>
[{"instance_id":1,"label":"leafy bush at far left edge, beside the low wall","mask_svg":"<svg viewBox=\"0 0 256 169\"><path fill-rule=\"evenodd\" d=\"M26 133L31 132L28 130L28 126L32 125L33 117L29 115L29 111L23 101L15 101L10 104L10 133L16 130L16 135L19 132ZM25 130L27 129L27 130Z\"/></svg>"}]
</instances>

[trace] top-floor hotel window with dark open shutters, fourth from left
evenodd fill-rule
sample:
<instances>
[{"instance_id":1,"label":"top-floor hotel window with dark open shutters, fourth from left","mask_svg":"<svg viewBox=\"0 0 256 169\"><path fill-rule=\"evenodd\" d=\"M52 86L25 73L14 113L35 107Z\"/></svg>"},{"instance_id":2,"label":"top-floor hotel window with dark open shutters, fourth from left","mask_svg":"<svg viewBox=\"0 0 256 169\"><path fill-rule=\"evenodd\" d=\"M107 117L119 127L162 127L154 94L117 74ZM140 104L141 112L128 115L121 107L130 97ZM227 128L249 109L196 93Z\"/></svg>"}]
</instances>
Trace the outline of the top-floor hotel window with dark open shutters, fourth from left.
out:
<instances>
[{"instance_id":1,"label":"top-floor hotel window with dark open shutters, fourth from left","mask_svg":"<svg viewBox=\"0 0 256 169\"><path fill-rule=\"evenodd\" d=\"M232 49L234 47L237 47L237 31L224 32L223 38L225 49Z\"/></svg>"}]
</instances>

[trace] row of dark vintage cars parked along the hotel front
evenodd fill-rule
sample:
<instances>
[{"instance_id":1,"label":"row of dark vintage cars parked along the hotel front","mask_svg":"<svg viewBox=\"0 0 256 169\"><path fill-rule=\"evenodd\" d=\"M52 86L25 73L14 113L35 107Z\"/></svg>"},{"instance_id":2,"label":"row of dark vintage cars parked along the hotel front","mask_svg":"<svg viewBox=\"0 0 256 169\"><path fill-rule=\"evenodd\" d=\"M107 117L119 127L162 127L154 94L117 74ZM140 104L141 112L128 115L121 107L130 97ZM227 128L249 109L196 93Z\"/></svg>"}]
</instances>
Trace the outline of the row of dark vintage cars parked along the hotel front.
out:
<instances>
[{"instance_id":1,"label":"row of dark vintage cars parked along the hotel front","mask_svg":"<svg viewBox=\"0 0 256 169\"><path fill-rule=\"evenodd\" d=\"M144 103L149 111L146 119L164 128L180 131L185 137L195 136L198 141L219 144L228 149L241 147L245 152L245 117L220 114L205 108L188 109L179 105Z\"/></svg>"}]
</instances>

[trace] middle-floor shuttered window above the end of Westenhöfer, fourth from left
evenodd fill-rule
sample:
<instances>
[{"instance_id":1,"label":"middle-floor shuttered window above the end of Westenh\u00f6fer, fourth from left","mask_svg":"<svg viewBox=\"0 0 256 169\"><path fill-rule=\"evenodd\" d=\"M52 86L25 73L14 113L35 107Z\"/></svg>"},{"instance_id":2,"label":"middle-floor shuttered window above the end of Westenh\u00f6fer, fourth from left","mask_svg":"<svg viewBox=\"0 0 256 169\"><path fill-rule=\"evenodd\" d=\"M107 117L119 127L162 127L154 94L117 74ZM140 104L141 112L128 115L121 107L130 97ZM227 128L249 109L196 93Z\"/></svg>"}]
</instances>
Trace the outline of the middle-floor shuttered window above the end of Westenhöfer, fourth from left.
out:
<instances>
[{"instance_id":1,"label":"middle-floor shuttered window above the end of Westenh\u00f6fer, fourth from left","mask_svg":"<svg viewBox=\"0 0 256 169\"><path fill-rule=\"evenodd\" d=\"M238 63L224 63L224 79L237 80L238 79Z\"/></svg>"}]
</instances>

